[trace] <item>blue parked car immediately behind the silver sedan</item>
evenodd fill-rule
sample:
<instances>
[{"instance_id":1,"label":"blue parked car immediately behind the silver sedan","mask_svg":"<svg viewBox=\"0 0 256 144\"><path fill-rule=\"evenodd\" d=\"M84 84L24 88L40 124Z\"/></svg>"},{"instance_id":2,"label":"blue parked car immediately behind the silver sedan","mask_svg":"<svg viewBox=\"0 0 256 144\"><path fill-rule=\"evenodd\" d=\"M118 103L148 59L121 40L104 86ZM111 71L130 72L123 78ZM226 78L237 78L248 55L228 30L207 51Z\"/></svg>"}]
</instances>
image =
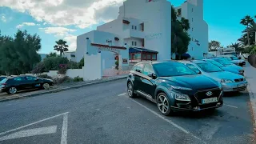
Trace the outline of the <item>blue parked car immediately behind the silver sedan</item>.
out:
<instances>
[{"instance_id":1,"label":"blue parked car immediately behind the silver sedan","mask_svg":"<svg viewBox=\"0 0 256 144\"><path fill-rule=\"evenodd\" d=\"M214 64L215 66L220 67L222 70L229 71L234 74L243 75L245 72L245 70L243 70L243 68L241 66L238 66L238 68L236 68L234 66L229 66L229 65L224 66L221 63L214 61L214 59L203 59L203 61L210 62L210 63Z\"/></svg>"}]
</instances>

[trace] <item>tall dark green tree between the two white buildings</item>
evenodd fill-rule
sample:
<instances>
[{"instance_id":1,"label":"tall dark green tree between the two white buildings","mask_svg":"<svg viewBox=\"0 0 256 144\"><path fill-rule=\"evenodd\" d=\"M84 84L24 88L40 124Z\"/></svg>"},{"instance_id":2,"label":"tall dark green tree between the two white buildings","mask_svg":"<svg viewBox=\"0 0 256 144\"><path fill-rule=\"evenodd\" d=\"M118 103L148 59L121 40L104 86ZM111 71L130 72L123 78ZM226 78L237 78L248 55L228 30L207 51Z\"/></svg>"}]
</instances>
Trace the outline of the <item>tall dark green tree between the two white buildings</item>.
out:
<instances>
[{"instance_id":1,"label":"tall dark green tree between the two white buildings","mask_svg":"<svg viewBox=\"0 0 256 144\"><path fill-rule=\"evenodd\" d=\"M190 45L190 35L187 30L190 29L190 23L186 18L177 19L177 12L174 7L171 8L171 51L174 54L181 55L186 53Z\"/></svg>"}]
</instances>

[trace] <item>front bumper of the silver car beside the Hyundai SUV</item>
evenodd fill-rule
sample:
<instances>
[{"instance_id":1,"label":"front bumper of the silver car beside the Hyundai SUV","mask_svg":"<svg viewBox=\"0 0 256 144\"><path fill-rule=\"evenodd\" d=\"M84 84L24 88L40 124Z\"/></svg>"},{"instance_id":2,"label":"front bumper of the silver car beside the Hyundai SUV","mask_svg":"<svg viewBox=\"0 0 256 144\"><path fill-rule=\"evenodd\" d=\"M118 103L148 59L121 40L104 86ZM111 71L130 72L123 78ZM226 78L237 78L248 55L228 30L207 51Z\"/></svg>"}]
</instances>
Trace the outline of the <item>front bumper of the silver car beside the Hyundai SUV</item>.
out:
<instances>
[{"instance_id":1,"label":"front bumper of the silver car beside the Hyundai SUV","mask_svg":"<svg viewBox=\"0 0 256 144\"><path fill-rule=\"evenodd\" d=\"M248 85L247 82L233 82L233 83L222 85L222 90L224 92L243 91L243 90L246 90L247 85Z\"/></svg>"}]
</instances>

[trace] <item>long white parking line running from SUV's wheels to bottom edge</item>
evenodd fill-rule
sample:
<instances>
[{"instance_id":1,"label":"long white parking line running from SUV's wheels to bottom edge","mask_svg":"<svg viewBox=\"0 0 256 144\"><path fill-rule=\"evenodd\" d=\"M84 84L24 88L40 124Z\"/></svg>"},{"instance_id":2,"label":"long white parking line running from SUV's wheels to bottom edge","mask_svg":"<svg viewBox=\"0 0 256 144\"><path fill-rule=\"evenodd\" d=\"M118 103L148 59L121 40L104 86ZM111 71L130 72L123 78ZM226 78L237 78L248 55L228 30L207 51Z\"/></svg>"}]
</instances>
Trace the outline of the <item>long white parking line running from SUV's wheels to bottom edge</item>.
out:
<instances>
[{"instance_id":1,"label":"long white parking line running from SUV's wheels to bottom edge","mask_svg":"<svg viewBox=\"0 0 256 144\"><path fill-rule=\"evenodd\" d=\"M137 101L135 101L134 99L131 99L131 100L134 101L135 103L137 103L139 106L144 107L146 110L149 110L151 113L155 114L155 115L158 116L159 118L162 118L162 120L164 120L164 121L170 123L171 125L173 125L174 127L178 128L179 130L182 130L184 133L190 134L192 137L194 137L194 138L196 138L196 139L202 141L201 138L198 138L198 137L195 136L194 134L191 134L188 130L185 130L184 128L182 128L182 126L178 126L178 125L175 124L174 122L171 122L169 119L166 119L164 116L162 116L162 115L156 113L154 110L151 110L150 108L148 108L148 107L142 105L142 103L137 102ZM202 143L205 143L205 144L206 144L206 142L204 142L204 141L202 141Z\"/></svg>"}]
</instances>

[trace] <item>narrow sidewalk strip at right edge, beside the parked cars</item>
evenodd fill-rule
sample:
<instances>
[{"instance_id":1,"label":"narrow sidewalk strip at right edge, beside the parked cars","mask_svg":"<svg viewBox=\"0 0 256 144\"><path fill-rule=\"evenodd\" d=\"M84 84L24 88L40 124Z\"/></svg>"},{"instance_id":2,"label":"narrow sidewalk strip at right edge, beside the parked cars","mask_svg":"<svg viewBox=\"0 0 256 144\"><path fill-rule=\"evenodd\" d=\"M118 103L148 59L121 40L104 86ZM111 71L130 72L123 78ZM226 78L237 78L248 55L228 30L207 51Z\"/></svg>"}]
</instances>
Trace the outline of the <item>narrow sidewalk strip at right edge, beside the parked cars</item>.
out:
<instances>
[{"instance_id":1,"label":"narrow sidewalk strip at right edge, beside the parked cars","mask_svg":"<svg viewBox=\"0 0 256 144\"><path fill-rule=\"evenodd\" d=\"M252 113L254 117L254 124L256 124L256 68L250 66L249 62L246 62L245 76L248 82L247 90L250 95L250 103L252 108Z\"/></svg>"}]
</instances>

